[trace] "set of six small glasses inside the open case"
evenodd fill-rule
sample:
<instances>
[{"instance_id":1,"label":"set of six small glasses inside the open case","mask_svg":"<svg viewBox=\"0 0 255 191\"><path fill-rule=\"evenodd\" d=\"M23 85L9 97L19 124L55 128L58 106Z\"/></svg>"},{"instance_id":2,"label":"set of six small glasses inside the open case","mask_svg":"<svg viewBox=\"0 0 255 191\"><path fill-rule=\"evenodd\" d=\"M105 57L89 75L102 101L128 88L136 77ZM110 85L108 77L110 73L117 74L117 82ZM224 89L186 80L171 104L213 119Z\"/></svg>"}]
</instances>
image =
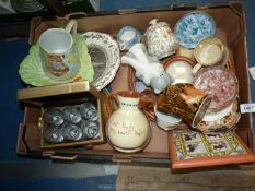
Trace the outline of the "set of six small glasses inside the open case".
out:
<instances>
[{"instance_id":1,"label":"set of six small glasses inside the open case","mask_svg":"<svg viewBox=\"0 0 255 191\"><path fill-rule=\"evenodd\" d=\"M96 140L100 136L98 112L95 105L49 107L43 112L44 141L48 144Z\"/></svg>"}]
</instances>

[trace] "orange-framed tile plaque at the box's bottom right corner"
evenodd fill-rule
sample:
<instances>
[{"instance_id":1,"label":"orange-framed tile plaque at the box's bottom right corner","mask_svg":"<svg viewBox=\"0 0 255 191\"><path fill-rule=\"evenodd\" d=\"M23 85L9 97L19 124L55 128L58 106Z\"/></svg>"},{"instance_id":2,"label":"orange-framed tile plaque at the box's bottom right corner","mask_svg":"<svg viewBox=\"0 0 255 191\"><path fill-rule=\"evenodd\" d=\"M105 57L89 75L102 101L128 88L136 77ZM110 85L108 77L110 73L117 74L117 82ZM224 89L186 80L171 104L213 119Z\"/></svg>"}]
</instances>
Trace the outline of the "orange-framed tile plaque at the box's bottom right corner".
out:
<instances>
[{"instance_id":1,"label":"orange-framed tile plaque at the box's bottom right corner","mask_svg":"<svg viewBox=\"0 0 255 191\"><path fill-rule=\"evenodd\" d=\"M189 129L169 132L172 168L193 168L255 162L234 131L202 134Z\"/></svg>"}]
</instances>

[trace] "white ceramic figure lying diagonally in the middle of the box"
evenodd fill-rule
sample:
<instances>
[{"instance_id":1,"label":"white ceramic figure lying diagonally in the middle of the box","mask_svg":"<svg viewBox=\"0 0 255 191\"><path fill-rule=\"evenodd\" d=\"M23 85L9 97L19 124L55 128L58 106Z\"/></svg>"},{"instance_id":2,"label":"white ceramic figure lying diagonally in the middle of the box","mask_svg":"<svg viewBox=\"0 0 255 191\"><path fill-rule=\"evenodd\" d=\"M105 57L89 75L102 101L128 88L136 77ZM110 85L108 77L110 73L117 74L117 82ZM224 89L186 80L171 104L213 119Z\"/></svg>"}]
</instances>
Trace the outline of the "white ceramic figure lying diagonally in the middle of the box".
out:
<instances>
[{"instance_id":1,"label":"white ceramic figure lying diagonally in the middle of the box","mask_svg":"<svg viewBox=\"0 0 255 191\"><path fill-rule=\"evenodd\" d=\"M151 86L155 94L161 93L171 83L170 75L157 57L150 57L143 44L132 46L121 57L121 63L128 64L136 70L136 77L147 86Z\"/></svg>"}]
</instances>

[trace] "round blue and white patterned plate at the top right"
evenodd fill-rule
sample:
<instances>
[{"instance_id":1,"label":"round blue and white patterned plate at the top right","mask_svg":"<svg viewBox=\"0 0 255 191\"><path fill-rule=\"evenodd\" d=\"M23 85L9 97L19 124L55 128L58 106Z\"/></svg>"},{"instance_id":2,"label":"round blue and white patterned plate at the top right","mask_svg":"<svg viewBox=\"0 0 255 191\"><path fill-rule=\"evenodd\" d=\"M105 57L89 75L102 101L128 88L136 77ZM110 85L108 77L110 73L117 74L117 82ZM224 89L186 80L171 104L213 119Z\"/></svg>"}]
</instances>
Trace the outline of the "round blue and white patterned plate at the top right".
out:
<instances>
[{"instance_id":1,"label":"round blue and white patterned plate at the top right","mask_svg":"<svg viewBox=\"0 0 255 191\"><path fill-rule=\"evenodd\" d=\"M184 15L175 25L174 34L179 45L195 48L197 44L216 33L216 22L207 13L193 12Z\"/></svg>"}]
</instances>

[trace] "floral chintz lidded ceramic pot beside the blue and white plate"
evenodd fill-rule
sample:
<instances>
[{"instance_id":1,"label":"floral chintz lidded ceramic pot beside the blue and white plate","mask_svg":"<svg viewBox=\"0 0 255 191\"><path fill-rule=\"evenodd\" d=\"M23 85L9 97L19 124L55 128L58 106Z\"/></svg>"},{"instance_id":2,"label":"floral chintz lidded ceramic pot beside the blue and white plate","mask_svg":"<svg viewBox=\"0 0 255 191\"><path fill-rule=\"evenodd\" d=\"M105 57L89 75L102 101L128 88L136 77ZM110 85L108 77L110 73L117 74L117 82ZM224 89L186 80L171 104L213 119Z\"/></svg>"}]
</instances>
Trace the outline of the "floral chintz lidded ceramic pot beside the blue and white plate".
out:
<instances>
[{"instance_id":1,"label":"floral chintz lidded ceramic pot beside the blue and white plate","mask_svg":"<svg viewBox=\"0 0 255 191\"><path fill-rule=\"evenodd\" d=\"M150 21L150 27L146 32L147 47L150 56L159 59L175 53L177 39L166 22Z\"/></svg>"}]
</instances>

